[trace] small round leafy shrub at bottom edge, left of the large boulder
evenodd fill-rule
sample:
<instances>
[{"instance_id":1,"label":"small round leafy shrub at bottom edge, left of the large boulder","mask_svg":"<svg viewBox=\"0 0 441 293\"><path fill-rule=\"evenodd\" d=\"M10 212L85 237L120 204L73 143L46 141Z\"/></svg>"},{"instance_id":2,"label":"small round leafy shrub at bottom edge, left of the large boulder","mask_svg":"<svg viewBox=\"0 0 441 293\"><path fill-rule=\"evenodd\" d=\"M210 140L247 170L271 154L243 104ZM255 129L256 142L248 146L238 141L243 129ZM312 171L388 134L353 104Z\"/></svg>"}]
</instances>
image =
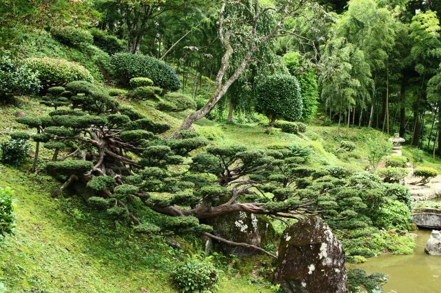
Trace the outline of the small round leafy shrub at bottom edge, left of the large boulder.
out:
<instances>
[{"instance_id":1,"label":"small round leafy shrub at bottom edge, left of the large boulder","mask_svg":"<svg viewBox=\"0 0 441 293\"><path fill-rule=\"evenodd\" d=\"M218 270L205 261L190 261L174 270L173 279L182 292L206 292L218 283Z\"/></svg>"}]
</instances>

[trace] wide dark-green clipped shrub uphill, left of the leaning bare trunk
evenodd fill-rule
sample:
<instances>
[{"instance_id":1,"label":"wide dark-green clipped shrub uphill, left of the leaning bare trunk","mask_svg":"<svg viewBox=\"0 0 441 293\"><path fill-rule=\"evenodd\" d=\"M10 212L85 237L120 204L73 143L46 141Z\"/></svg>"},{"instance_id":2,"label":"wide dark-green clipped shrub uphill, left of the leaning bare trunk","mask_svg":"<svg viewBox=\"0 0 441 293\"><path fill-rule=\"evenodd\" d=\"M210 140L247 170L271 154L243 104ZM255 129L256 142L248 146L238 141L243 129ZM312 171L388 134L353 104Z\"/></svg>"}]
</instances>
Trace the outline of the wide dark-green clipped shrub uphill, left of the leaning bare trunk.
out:
<instances>
[{"instance_id":1,"label":"wide dark-green clipped shrub uphill, left of the leaning bare trunk","mask_svg":"<svg viewBox=\"0 0 441 293\"><path fill-rule=\"evenodd\" d=\"M113 74L124 85L128 85L131 78L147 77L154 85L166 91L177 91L181 88L174 69L156 58L141 54L117 53L111 58Z\"/></svg>"}]
</instances>

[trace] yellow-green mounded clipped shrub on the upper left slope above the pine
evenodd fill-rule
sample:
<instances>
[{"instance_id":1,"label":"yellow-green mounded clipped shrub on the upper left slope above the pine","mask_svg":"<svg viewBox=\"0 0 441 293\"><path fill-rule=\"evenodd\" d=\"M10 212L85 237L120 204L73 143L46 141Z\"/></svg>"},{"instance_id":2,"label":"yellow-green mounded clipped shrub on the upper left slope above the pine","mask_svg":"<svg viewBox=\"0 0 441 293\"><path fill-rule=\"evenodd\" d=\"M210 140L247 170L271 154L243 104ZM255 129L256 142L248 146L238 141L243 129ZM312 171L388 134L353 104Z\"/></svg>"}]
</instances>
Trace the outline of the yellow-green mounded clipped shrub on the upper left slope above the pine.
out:
<instances>
[{"instance_id":1,"label":"yellow-green mounded clipped shrub on the upper left slope above the pine","mask_svg":"<svg viewBox=\"0 0 441 293\"><path fill-rule=\"evenodd\" d=\"M38 72L38 78L45 88L52 85L65 85L74 80L92 83L94 78L83 66L58 58L28 58L25 65Z\"/></svg>"}]
</instances>

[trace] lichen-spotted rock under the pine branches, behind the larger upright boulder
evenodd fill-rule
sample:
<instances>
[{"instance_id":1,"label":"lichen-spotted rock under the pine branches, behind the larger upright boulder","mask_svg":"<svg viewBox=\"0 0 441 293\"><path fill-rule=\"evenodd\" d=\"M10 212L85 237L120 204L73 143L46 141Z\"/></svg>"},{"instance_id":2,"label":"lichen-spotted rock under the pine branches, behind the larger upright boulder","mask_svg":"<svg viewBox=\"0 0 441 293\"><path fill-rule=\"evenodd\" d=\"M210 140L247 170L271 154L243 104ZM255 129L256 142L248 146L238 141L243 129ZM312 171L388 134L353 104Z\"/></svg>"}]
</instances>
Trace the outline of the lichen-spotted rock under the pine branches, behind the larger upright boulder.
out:
<instances>
[{"instance_id":1,"label":"lichen-spotted rock under the pine branches, behind the larger upright boulder","mask_svg":"<svg viewBox=\"0 0 441 293\"><path fill-rule=\"evenodd\" d=\"M267 243L273 241L276 235L271 222L263 215L244 212L232 213L217 217L210 224L213 226L214 234L220 237L260 247L264 247ZM234 254L236 257L247 257L259 253L258 250L229 246L218 241L214 241L214 248L221 250L225 254Z\"/></svg>"}]
</instances>

